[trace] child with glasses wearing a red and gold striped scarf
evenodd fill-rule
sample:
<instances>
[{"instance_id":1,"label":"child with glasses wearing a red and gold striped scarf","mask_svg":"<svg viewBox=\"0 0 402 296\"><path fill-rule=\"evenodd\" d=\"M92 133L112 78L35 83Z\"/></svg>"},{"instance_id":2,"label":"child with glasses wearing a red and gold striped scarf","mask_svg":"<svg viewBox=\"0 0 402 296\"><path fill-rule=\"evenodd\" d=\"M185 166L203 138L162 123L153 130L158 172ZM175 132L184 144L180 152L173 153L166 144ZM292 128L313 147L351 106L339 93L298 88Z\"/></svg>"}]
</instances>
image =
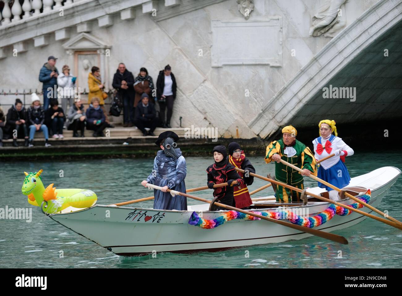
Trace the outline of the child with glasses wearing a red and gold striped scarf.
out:
<instances>
[{"instance_id":1,"label":"child with glasses wearing a red and gold striped scarf","mask_svg":"<svg viewBox=\"0 0 402 296\"><path fill-rule=\"evenodd\" d=\"M251 185L252 182L254 182L254 177L250 176L248 173L255 174L255 169L238 143L230 143L228 146L228 150L229 163L232 164L232 166L234 166L235 168L241 168L242 170L246 171L246 176L244 176L242 172L238 172L239 176L243 178L244 184L233 186L233 196L236 207L240 209L245 209L252 204L247 185Z\"/></svg>"}]
</instances>

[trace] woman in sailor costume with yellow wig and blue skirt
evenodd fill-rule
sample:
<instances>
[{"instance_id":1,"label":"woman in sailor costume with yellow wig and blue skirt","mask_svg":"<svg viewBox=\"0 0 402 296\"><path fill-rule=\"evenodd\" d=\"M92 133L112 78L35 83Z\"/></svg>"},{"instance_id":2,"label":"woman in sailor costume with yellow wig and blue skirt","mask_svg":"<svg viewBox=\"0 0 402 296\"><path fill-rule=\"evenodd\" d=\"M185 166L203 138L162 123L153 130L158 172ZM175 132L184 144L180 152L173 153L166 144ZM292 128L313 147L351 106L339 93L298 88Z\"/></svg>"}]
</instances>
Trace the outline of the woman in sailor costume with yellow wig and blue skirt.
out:
<instances>
[{"instance_id":1,"label":"woman in sailor costume with yellow wig and blue skirt","mask_svg":"<svg viewBox=\"0 0 402 296\"><path fill-rule=\"evenodd\" d=\"M336 132L334 120L321 120L318 127L320 128L320 137L313 141L314 157L320 160L332 153L334 153L335 156L321 161L317 176L338 188L343 188L347 186L351 180L344 162L346 156L353 155L353 149L346 145L341 138L337 137L338 133ZM334 132L335 135L332 135L332 132ZM330 199L339 199L338 191L320 182L318 182L318 186L326 188Z\"/></svg>"}]
</instances>

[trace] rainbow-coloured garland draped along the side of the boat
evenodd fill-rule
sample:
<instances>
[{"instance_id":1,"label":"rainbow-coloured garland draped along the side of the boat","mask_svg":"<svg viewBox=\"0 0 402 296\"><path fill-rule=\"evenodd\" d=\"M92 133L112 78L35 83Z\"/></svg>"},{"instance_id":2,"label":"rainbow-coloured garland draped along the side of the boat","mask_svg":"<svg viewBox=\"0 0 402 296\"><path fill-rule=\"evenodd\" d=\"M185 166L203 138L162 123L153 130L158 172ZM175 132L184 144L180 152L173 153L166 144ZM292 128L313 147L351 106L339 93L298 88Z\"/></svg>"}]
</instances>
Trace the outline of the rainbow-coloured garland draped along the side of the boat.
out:
<instances>
[{"instance_id":1,"label":"rainbow-coloured garland draped along the side of the boat","mask_svg":"<svg viewBox=\"0 0 402 296\"><path fill-rule=\"evenodd\" d=\"M359 198L361 201L368 203L370 201L371 197L371 191L370 189L367 190L367 192ZM361 203L353 203L350 205L350 207L353 207L354 209L360 209L363 207ZM269 217L273 219L288 219L291 223L301 225L304 227L308 228L313 228L320 226L324 224L326 221L329 221L334 217L334 215L340 215L340 216L346 216L350 215L353 211L349 209L345 209L344 207L336 206L334 204L331 204L326 210L322 211L321 213L315 215L314 217L301 217L299 215L296 215L290 210L282 210L278 212L258 212L258 211L252 211L252 213L262 215L264 217ZM241 219L241 220L260 220L258 217L254 217L248 214L240 213L238 211L228 211L226 213L223 213L222 216L217 217L216 219L213 220L208 220L208 219L203 219L202 217L199 217L195 211L191 214L191 217L189 219L189 224L198 226L204 229L211 229L211 228L216 228L219 225L224 224L227 221L233 220L233 219Z\"/></svg>"}]
</instances>

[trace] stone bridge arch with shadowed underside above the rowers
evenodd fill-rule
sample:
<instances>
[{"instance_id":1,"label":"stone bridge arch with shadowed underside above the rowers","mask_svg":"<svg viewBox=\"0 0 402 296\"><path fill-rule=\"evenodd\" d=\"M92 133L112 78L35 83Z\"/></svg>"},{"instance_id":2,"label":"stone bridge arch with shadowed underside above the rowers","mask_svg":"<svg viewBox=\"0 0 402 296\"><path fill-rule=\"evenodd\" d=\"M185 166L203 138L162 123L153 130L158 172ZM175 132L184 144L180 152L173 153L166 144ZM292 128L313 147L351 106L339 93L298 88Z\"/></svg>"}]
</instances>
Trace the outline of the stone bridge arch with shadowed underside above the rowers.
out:
<instances>
[{"instance_id":1,"label":"stone bridge arch with shadowed underside above the rowers","mask_svg":"<svg viewBox=\"0 0 402 296\"><path fill-rule=\"evenodd\" d=\"M400 118L402 0L380 0L343 29L248 123L259 137L281 126ZM388 56L385 52L388 50ZM324 87L355 87L356 98L324 98ZM329 118L328 118L329 119Z\"/></svg>"}]
</instances>

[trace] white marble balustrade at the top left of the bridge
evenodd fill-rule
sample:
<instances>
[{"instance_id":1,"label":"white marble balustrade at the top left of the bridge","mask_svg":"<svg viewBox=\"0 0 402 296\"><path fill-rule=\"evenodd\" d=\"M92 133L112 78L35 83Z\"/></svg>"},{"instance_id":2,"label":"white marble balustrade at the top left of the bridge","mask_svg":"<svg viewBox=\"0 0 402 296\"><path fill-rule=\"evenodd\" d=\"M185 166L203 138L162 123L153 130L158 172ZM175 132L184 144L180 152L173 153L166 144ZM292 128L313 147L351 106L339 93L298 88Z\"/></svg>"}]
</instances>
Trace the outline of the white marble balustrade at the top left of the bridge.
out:
<instances>
[{"instance_id":1,"label":"white marble balustrade at the top left of the bridge","mask_svg":"<svg viewBox=\"0 0 402 296\"><path fill-rule=\"evenodd\" d=\"M74 2L78 1L74 0ZM0 11L0 28L22 19L29 19L29 17L73 4L73 0L67 0L64 3L63 0L24 0L22 5L22 1L18 0L2 0L1 2L4 3L4 8Z\"/></svg>"}]
</instances>

